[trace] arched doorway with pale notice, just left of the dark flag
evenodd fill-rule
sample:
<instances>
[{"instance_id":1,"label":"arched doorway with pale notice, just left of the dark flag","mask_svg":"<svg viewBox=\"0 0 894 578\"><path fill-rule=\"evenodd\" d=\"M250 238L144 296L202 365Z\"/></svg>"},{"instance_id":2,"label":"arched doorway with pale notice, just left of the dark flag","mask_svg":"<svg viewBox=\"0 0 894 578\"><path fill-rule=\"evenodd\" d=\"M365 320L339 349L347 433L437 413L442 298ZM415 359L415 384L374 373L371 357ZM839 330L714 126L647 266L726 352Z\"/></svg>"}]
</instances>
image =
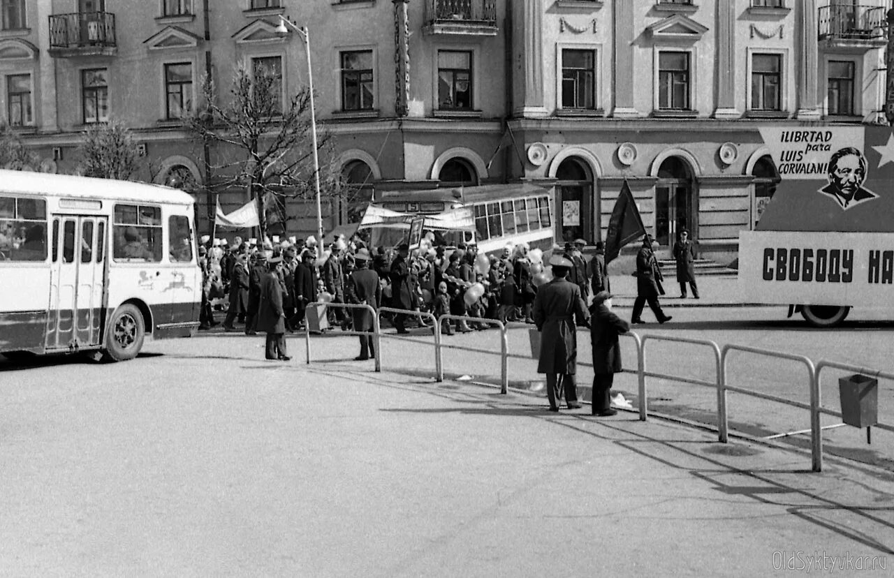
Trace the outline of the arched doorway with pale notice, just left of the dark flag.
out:
<instances>
[{"instance_id":1,"label":"arched doorway with pale notice, just left of the dark flag","mask_svg":"<svg viewBox=\"0 0 894 578\"><path fill-rule=\"evenodd\" d=\"M593 175L582 160L569 157L556 170L559 198L556 199L556 222L559 238L565 242L584 239L594 243Z\"/></svg>"}]
</instances>

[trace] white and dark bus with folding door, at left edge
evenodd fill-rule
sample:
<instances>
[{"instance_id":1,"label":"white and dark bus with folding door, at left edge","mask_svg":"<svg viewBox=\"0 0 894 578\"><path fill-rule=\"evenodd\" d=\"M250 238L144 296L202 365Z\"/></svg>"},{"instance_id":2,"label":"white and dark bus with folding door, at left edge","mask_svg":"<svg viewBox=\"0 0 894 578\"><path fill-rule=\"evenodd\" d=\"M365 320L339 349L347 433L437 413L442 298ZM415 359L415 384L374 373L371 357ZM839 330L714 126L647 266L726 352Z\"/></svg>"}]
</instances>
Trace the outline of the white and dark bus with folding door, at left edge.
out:
<instances>
[{"instance_id":1,"label":"white and dark bus with folding door, at left edge","mask_svg":"<svg viewBox=\"0 0 894 578\"><path fill-rule=\"evenodd\" d=\"M122 361L193 335L195 219L173 188L0 171L0 354Z\"/></svg>"}]
</instances>

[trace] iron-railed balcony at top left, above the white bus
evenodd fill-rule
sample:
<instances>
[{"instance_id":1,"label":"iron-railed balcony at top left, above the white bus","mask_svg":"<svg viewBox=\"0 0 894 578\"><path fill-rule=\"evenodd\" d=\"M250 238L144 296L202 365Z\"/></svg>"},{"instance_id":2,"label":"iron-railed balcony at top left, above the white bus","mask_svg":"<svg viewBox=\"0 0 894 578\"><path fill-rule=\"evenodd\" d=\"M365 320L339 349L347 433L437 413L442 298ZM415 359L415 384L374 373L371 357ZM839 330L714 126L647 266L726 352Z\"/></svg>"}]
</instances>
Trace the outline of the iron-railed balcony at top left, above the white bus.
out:
<instances>
[{"instance_id":1,"label":"iron-railed balcony at top left, above the white bus","mask_svg":"<svg viewBox=\"0 0 894 578\"><path fill-rule=\"evenodd\" d=\"M117 52L113 13L88 12L50 16L49 53L54 57L112 56Z\"/></svg>"}]
</instances>

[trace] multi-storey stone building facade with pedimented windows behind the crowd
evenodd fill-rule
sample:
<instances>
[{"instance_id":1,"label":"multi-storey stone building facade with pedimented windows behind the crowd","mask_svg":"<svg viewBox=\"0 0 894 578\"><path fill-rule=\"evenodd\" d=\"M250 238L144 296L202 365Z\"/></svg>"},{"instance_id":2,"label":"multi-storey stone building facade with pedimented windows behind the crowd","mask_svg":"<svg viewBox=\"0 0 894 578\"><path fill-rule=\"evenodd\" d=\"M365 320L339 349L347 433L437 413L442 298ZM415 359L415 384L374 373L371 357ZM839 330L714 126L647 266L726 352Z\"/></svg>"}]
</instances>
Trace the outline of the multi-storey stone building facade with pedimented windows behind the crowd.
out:
<instances>
[{"instance_id":1,"label":"multi-storey stone building facade with pedimented windows behind the crowd","mask_svg":"<svg viewBox=\"0 0 894 578\"><path fill-rule=\"evenodd\" d=\"M662 246L687 228L703 255L729 255L778 181L761 127L884 121L884 4L4 0L0 98L60 172L85 127L116 118L152 161L140 178L206 183L215 151L180 120L201 79L264 65L288 96L308 85L309 50L317 121L358 203L529 181L554 190L557 239L593 243L626 180ZM334 203L325 229L355 208ZM316 229L289 211L288 232Z\"/></svg>"}]
</instances>

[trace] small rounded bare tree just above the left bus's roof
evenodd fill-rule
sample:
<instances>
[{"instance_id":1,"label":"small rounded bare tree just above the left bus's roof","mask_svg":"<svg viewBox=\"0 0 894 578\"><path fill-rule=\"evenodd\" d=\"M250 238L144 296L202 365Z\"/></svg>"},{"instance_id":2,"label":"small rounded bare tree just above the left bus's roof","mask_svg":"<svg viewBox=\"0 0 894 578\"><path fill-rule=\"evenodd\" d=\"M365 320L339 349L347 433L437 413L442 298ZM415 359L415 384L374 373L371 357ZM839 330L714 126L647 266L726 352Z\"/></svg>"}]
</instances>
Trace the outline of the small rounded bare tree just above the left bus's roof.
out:
<instances>
[{"instance_id":1,"label":"small rounded bare tree just above the left bus's roof","mask_svg":"<svg viewBox=\"0 0 894 578\"><path fill-rule=\"evenodd\" d=\"M121 121L90 126L84 131L77 154L80 156L78 172L85 177L130 180L139 170L137 144L131 130Z\"/></svg>"}]
</instances>

